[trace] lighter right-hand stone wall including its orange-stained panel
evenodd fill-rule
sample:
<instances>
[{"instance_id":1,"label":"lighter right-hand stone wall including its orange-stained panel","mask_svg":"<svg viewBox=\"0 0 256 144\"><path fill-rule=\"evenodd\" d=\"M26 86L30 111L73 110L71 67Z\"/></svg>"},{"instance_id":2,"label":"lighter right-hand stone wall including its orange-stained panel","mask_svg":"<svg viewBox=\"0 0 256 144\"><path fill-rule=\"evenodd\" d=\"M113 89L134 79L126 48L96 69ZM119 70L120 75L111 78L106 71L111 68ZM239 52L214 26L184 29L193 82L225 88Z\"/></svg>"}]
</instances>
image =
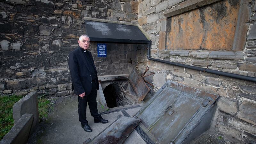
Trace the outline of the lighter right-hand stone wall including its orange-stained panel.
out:
<instances>
[{"instance_id":1,"label":"lighter right-hand stone wall including its orange-stained panel","mask_svg":"<svg viewBox=\"0 0 256 144\"><path fill-rule=\"evenodd\" d=\"M138 22L152 40L151 57L255 77L255 10L254 0L144 0ZM233 142L255 143L255 83L156 61L139 68L146 66L155 73L155 92L170 79L220 95L212 129Z\"/></svg>"}]
</instances>

